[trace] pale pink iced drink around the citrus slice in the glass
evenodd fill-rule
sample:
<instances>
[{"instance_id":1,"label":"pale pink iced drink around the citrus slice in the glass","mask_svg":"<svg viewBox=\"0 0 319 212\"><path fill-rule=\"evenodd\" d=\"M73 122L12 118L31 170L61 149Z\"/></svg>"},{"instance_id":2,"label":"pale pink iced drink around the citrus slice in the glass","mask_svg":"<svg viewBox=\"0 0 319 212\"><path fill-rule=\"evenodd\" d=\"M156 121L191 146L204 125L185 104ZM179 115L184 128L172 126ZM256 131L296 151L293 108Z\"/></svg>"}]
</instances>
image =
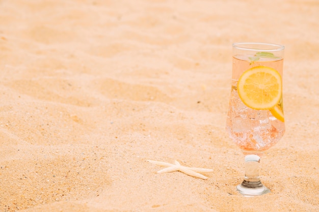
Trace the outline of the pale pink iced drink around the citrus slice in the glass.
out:
<instances>
[{"instance_id":1,"label":"pale pink iced drink around the citrus slice in the glass","mask_svg":"<svg viewBox=\"0 0 319 212\"><path fill-rule=\"evenodd\" d=\"M247 107L237 93L237 82L244 71L267 66L277 70L281 77L282 57L256 57L256 55L234 55L232 86L226 130L230 138L246 151L261 152L275 145L285 132L285 125L270 110L255 110ZM283 111L282 98L277 106Z\"/></svg>"}]
</instances>

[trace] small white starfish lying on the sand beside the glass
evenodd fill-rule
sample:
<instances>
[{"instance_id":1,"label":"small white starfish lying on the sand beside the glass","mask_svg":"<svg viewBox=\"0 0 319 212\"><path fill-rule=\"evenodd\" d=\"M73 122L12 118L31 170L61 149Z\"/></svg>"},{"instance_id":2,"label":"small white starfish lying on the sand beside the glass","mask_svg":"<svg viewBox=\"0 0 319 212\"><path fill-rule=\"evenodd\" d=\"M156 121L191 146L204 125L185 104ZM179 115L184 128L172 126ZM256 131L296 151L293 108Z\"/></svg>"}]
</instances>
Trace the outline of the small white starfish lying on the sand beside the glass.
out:
<instances>
[{"instance_id":1,"label":"small white starfish lying on the sand beside the glass","mask_svg":"<svg viewBox=\"0 0 319 212\"><path fill-rule=\"evenodd\" d=\"M160 166L168 166L165 169L157 171L157 173L180 171L180 172L182 172L184 174L187 174L187 175L190 175L190 176L193 176L193 177L198 177L198 178L201 178L201 179L207 179L208 177L206 177L206 176L204 176L204 175L202 175L200 173L197 173L197 172L212 172L213 171L212 169L203 169L203 168L182 166L182 165L180 165L180 163L178 161L175 161L175 164L161 162L161 161L152 161L152 160L147 160L147 161L152 163L152 164L156 164L156 165L160 165Z\"/></svg>"}]
</instances>

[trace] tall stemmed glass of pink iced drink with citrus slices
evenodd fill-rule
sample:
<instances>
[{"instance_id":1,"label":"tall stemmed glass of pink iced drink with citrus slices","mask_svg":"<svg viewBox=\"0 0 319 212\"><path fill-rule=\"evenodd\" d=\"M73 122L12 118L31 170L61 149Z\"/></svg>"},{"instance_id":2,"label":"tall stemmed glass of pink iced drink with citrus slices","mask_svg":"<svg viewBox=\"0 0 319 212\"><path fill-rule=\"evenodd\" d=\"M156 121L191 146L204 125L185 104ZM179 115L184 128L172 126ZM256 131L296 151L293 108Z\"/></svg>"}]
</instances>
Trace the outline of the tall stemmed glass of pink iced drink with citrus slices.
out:
<instances>
[{"instance_id":1,"label":"tall stemmed glass of pink iced drink with citrus slices","mask_svg":"<svg viewBox=\"0 0 319 212\"><path fill-rule=\"evenodd\" d=\"M244 196L269 193L259 178L262 153L285 132L282 74L284 46L234 43L226 131L245 155Z\"/></svg>"}]
</instances>

